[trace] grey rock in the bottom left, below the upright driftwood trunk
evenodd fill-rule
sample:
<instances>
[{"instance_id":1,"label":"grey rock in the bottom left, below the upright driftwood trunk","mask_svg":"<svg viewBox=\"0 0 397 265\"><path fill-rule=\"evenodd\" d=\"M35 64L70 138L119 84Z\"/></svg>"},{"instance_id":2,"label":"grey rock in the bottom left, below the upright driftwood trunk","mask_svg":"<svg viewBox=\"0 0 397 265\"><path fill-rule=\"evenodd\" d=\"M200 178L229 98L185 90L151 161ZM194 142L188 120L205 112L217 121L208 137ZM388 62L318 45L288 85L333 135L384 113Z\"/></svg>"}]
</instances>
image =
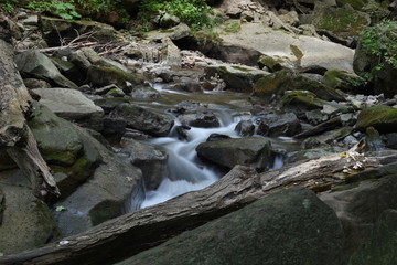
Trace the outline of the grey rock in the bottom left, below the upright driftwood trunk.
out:
<instances>
[{"instance_id":1,"label":"grey rock in the bottom left, below the upright driftwood trunk","mask_svg":"<svg viewBox=\"0 0 397 265\"><path fill-rule=\"evenodd\" d=\"M1 254L40 247L57 236L50 209L33 197L31 183L20 170L1 171L0 182Z\"/></svg>"}]
</instances>

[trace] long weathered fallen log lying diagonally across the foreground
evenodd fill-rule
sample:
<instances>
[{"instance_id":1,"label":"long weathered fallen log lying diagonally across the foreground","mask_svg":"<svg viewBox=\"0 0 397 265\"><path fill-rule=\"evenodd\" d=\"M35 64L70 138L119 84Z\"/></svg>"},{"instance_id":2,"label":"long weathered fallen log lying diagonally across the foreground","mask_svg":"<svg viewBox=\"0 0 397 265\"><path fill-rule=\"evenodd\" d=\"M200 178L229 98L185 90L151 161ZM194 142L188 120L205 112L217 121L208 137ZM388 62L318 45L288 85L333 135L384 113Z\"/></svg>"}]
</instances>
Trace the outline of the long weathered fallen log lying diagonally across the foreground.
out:
<instances>
[{"instance_id":1,"label":"long weathered fallen log lying diagonally across the foreground","mask_svg":"<svg viewBox=\"0 0 397 265\"><path fill-rule=\"evenodd\" d=\"M236 166L214 184L99 224L44 247L0 257L0 264L114 264L290 186L326 190L355 172L396 161L336 153L258 174Z\"/></svg>"}]
</instances>

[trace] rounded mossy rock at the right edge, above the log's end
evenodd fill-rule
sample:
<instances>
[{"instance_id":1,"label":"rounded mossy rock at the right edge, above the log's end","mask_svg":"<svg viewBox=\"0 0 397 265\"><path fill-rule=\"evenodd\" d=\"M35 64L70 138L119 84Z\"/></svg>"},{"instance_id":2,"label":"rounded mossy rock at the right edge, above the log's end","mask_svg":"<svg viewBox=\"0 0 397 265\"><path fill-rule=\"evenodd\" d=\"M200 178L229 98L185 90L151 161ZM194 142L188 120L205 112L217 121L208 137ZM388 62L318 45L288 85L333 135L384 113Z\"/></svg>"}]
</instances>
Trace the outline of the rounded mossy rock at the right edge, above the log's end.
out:
<instances>
[{"instance_id":1,"label":"rounded mossy rock at the right edge, above the log's end","mask_svg":"<svg viewBox=\"0 0 397 265\"><path fill-rule=\"evenodd\" d=\"M363 109L357 116L356 129L364 131L373 126L379 132L397 131L397 109L379 105Z\"/></svg>"}]
</instances>

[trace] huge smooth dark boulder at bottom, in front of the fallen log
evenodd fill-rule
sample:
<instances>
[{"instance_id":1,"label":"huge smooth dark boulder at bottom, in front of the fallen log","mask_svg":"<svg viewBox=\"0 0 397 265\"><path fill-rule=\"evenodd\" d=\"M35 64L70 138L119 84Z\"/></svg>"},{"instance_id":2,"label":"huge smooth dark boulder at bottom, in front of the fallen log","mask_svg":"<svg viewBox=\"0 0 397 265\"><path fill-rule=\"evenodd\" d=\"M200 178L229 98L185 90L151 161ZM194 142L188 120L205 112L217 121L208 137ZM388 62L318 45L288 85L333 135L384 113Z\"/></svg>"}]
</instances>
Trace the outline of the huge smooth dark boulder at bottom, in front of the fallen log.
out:
<instances>
[{"instance_id":1,"label":"huge smooth dark boulder at bottom, in front of the fallen log","mask_svg":"<svg viewBox=\"0 0 397 265\"><path fill-rule=\"evenodd\" d=\"M119 265L340 265L335 213L304 188L270 194Z\"/></svg>"}]
</instances>

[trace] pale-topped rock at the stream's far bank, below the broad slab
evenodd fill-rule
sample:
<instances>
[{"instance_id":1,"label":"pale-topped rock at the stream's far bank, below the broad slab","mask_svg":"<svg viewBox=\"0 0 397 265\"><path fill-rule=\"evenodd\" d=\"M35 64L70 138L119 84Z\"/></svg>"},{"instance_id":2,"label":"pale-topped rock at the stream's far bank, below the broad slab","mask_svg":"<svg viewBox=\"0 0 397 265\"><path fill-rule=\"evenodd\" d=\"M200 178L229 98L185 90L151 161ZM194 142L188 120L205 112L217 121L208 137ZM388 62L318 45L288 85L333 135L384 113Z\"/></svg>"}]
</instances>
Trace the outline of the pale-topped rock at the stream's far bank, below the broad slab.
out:
<instances>
[{"instance_id":1,"label":"pale-topped rock at the stream's far bank, below the broad slab","mask_svg":"<svg viewBox=\"0 0 397 265\"><path fill-rule=\"evenodd\" d=\"M253 84L267 72L240 65L210 65L204 70L207 77L218 76L226 83L226 89L235 92L251 92Z\"/></svg>"}]
</instances>

